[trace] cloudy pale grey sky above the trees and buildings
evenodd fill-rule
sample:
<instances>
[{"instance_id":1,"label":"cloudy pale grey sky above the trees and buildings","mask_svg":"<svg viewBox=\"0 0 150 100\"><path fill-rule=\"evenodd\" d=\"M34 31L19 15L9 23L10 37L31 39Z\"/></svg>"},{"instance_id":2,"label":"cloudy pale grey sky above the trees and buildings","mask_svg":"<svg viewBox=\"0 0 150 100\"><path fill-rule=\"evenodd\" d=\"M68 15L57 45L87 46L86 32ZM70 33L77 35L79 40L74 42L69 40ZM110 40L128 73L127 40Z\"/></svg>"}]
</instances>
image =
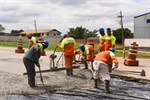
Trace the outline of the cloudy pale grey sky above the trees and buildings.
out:
<instances>
[{"instance_id":1,"label":"cloudy pale grey sky above the trees and buildings","mask_svg":"<svg viewBox=\"0 0 150 100\"><path fill-rule=\"evenodd\" d=\"M150 0L0 0L0 24L11 30L57 29L84 27L121 28L134 32L134 16L150 12Z\"/></svg>"}]
</instances>

